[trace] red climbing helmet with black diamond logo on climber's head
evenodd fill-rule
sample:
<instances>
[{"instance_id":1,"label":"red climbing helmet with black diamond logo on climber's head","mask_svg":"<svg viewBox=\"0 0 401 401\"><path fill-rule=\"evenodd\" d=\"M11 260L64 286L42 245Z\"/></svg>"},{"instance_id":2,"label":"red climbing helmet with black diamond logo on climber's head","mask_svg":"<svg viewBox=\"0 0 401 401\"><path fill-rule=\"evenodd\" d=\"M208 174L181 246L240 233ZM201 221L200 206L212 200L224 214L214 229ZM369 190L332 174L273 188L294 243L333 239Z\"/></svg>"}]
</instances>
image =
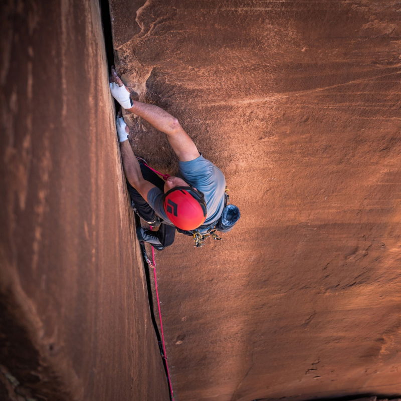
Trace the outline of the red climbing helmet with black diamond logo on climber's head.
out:
<instances>
[{"instance_id":1,"label":"red climbing helmet with black diamond logo on climber's head","mask_svg":"<svg viewBox=\"0 0 401 401\"><path fill-rule=\"evenodd\" d=\"M197 229L206 219L204 194L192 186L174 186L164 194L164 211L181 230Z\"/></svg>"}]
</instances>

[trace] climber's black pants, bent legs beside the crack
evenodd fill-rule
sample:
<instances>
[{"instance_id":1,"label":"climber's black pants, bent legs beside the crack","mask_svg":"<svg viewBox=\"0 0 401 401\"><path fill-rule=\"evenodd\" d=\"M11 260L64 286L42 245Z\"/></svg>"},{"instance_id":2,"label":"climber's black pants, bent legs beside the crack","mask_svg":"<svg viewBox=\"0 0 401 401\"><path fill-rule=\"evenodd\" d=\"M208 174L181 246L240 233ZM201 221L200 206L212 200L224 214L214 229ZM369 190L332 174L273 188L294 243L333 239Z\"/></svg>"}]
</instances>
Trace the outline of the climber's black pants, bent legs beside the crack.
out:
<instances>
[{"instance_id":1,"label":"climber's black pants, bent legs beside the crack","mask_svg":"<svg viewBox=\"0 0 401 401\"><path fill-rule=\"evenodd\" d=\"M139 166L141 168L142 176L146 181L151 182L153 185L157 186L161 191L163 191L164 181L149 167L139 161ZM156 215L154 210L146 202L146 200L140 195L140 193L127 181L128 192L131 196L133 207L136 209L136 213L146 222L152 222L155 220ZM167 224L161 223L158 231L145 230L143 237L156 237L161 246L157 249L161 250L168 247L174 242L175 238L175 227L169 226ZM151 241L149 241L151 242Z\"/></svg>"}]
</instances>

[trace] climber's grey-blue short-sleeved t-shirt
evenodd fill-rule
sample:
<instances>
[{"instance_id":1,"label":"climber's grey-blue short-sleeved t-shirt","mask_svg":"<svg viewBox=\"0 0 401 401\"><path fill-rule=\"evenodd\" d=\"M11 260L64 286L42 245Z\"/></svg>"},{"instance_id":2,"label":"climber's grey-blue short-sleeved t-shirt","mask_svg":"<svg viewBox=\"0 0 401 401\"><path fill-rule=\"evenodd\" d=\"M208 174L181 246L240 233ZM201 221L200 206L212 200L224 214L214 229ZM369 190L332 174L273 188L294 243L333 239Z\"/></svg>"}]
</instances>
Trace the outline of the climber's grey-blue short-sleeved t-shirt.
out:
<instances>
[{"instance_id":1,"label":"climber's grey-blue short-sleeved t-shirt","mask_svg":"<svg viewBox=\"0 0 401 401\"><path fill-rule=\"evenodd\" d=\"M205 195L207 214L203 226L219 220L224 209L226 189L223 172L202 155L191 161L179 161L178 167L178 176ZM163 223L173 226L164 212L163 195L159 188L152 188L147 194L147 202L156 215L164 220Z\"/></svg>"}]
</instances>

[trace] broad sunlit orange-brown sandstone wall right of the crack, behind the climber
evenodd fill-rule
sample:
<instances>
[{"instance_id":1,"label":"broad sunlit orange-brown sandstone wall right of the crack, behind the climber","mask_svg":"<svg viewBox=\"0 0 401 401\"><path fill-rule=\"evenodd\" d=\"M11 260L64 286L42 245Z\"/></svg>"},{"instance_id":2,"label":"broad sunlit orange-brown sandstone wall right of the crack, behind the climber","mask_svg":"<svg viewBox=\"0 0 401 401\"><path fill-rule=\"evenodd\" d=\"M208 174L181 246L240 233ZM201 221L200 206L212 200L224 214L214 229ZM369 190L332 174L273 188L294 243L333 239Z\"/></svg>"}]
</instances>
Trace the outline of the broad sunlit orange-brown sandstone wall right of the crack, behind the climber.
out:
<instances>
[{"instance_id":1,"label":"broad sunlit orange-brown sandstone wall right of the crack, behind the climber","mask_svg":"<svg viewBox=\"0 0 401 401\"><path fill-rule=\"evenodd\" d=\"M397 1L112 0L119 71L242 219L157 254L177 401L401 392ZM163 135L131 118L163 171Z\"/></svg>"}]
</instances>

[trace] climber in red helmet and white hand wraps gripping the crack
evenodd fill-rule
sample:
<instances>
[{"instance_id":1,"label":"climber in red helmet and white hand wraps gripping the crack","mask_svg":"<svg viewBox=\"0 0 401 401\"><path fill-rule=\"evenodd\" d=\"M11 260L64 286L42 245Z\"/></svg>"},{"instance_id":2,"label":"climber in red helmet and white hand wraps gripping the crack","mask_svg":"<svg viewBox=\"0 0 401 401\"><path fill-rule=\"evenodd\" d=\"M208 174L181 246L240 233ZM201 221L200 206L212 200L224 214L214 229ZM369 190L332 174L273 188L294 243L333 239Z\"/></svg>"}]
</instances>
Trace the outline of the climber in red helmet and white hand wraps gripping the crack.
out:
<instances>
[{"instance_id":1,"label":"climber in red helmet and white hand wraps gripping the crack","mask_svg":"<svg viewBox=\"0 0 401 401\"><path fill-rule=\"evenodd\" d=\"M142 117L167 135L179 160L178 175L170 176L164 182L143 159L134 155L128 141L128 126L123 117L117 117L117 133L132 207L149 225L158 227L162 223L158 231L138 228L138 239L161 250L174 241L175 228L194 238L216 230L225 209L226 180L223 172L199 153L175 117L156 105L132 100L113 67L109 85L112 96L122 108ZM234 214L232 210L226 213L220 222L220 231L224 231L233 218L239 219L237 211L238 208Z\"/></svg>"}]
</instances>

